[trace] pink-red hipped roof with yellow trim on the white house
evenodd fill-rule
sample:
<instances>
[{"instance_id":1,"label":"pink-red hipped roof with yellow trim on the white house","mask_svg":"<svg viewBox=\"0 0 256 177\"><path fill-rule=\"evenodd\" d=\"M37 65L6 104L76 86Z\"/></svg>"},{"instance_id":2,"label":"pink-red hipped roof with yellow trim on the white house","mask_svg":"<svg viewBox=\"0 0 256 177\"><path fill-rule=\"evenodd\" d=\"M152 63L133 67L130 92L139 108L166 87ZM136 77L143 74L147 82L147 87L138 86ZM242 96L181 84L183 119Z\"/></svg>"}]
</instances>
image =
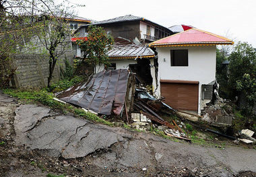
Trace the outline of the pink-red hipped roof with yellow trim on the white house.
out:
<instances>
[{"instance_id":1,"label":"pink-red hipped roof with yellow trim on the white house","mask_svg":"<svg viewBox=\"0 0 256 177\"><path fill-rule=\"evenodd\" d=\"M201 46L201 45L217 45L217 44L233 44L232 40L205 32L197 28L191 28L184 32L179 32L156 40L149 44L149 46Z\"/></svg>"}]
</instances>

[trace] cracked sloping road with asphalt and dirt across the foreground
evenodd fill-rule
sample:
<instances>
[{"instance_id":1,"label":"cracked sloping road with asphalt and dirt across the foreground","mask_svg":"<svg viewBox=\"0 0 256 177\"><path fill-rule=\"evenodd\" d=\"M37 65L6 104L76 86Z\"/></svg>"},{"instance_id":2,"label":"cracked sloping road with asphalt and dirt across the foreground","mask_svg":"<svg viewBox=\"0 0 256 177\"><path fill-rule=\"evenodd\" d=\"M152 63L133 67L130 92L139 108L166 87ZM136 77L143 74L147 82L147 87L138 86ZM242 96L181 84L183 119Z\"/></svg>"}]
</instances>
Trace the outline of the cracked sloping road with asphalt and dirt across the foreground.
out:
<instances>
[{"instance_id":1,"label":"cracked sloping road with asphalt and dirt across the foreground","mask_svg":"<svg viewBox=\"0 0 256 177\"><path fill-rule=\"evenodd\" d=\"M256 176L256 151L177 143L0 94L0 176Z\"/></svg>"}]
</instances>

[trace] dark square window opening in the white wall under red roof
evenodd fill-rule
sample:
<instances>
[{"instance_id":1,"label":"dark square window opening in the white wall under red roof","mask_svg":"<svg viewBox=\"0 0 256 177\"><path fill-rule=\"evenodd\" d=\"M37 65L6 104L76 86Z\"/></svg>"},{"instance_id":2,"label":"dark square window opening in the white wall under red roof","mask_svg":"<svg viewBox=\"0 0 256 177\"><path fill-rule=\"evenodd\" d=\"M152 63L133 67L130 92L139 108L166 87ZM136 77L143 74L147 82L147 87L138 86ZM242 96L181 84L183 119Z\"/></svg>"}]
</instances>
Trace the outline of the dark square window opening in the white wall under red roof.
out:
<instances>
[{"instance_id":1,"label":"dark square window opening in the white wall under red roof","mask_svg":"<svg viewBox=\"0 0 256 177\"><path fill-rule=\"evenodd\" d=\"M170 65L172 67L189 66L188 50L170 50Z\"/></svg>"}]
</instances>

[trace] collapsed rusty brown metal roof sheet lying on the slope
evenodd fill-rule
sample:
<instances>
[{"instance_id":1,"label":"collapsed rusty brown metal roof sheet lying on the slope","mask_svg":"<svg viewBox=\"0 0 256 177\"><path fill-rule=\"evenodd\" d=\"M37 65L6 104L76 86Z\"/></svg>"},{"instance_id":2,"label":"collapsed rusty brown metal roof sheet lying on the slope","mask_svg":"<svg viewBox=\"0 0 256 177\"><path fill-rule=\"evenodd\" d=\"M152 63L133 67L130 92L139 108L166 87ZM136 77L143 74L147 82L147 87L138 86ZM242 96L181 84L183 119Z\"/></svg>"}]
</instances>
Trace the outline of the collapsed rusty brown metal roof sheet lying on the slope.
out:
<instances>
[{"instance_id":1,"label":"collapsed rusty brown metal roof sheet lying on the slope","mask_svg":"<svg viewBox=\"0 0 256 177\"><path fill-rule=\"evenodd\" d=\"M99 114L119 115L125 102L128 78L128 69L104 70L57 97Z\"/></svg>"}]
</instances>

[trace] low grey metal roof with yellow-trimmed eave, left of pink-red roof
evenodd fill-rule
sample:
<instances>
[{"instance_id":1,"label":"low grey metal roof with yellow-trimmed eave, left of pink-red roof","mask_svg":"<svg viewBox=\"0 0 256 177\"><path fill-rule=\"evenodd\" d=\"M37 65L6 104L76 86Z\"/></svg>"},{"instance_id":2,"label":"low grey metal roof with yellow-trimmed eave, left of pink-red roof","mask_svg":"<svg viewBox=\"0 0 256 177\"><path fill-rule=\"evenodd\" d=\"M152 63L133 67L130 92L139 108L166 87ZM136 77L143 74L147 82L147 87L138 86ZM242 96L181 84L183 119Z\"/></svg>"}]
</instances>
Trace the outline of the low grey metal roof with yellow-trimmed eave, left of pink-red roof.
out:
<instances>
[{"instance_id":1,"label":"low grey metal roof with yellow-trimmed eave, left of pink-red roof","mask_svg":"<svg viewBox=\"0 0 256 177\"><path fill-rule=\"evenodd\" d=\"M154 57L154 51L143 44L115 44L107 52L110 59L135 59L136 57Z\"/></svg>"}]
</instances>

